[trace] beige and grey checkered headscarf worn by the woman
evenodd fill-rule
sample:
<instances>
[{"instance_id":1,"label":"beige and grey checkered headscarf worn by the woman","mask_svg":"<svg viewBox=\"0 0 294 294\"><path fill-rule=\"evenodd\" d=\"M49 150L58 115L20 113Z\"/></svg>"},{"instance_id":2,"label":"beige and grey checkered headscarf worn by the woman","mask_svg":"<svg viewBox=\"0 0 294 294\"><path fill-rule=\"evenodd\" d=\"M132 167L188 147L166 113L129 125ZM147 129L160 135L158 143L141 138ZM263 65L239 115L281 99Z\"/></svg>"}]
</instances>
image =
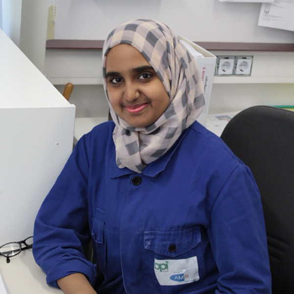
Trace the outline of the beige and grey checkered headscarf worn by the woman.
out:
<instances>
[{"instance_id":1,"label":"beige and grey checkered headscarf worn by the woman","mask_svg":"<svg viewBox=\"0 0 294 294\"><path fill-rule=\"evenodd\" d=\"M118 117L110 106L116 124L113 140L116 163L141 173L147 164L166 153L201 113L203 85L195 59L166 25L152 20L125 22L114 29L103 46L103 85L109 102L105 63L109 50L118 44L139 50L157 73L170 97L159 119L146 127L133 127Z\"/></svg>"}]
</instances>

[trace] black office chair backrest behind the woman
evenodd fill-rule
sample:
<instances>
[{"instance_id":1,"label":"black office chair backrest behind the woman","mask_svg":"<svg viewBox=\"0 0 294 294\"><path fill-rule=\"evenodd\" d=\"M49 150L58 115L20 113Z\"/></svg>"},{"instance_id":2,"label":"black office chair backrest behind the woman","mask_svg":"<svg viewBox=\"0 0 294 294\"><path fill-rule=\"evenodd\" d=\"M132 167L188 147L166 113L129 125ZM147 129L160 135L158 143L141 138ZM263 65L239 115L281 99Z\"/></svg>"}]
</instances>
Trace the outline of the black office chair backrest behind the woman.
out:
<instances>
[{"instance_id":1,"label":"black office chair backrest behind the woman","mask_svg":"<svg viewBox=\"0 0 294 294\"><path fill-rule=\"evenodd\" d=\"M261 193L272 294L294 293L294 112L247 108L221 138L251 169Z\"/></svg>"}]
</instances>

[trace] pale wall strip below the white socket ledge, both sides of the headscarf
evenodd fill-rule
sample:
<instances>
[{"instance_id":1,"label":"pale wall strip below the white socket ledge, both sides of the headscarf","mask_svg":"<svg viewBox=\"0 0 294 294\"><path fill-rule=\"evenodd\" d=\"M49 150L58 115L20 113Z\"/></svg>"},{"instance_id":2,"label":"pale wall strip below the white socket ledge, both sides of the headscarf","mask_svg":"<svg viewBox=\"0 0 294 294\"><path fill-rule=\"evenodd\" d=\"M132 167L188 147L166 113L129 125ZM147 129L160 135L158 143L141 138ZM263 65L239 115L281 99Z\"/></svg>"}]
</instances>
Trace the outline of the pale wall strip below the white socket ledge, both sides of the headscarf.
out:
<instances>
[{"instance_id":1,"label":"pale wall strip below the white socket ledge, both sides of the headscarf","mask_svg":"<svg viewBox=\"0 0 294 294\"><path fill-rule=\"evenodd\" d=\"M56 86L62 93L64 85ZM240 111L253 105L293 105L294 83L213 84L209 113ZM107 117L108 103L102 85L74 85L70 102L76 117Z\"/></svg>"}]
</instances>

